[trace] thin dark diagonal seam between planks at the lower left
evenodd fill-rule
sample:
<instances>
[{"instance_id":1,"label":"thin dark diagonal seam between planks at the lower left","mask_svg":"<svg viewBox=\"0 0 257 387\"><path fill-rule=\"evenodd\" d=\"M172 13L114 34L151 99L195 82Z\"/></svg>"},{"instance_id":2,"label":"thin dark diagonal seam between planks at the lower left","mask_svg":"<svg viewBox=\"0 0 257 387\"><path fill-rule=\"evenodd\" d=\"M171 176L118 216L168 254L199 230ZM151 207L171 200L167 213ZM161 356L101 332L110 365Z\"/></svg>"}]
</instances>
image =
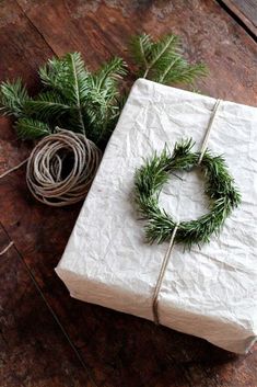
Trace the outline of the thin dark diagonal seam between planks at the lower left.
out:
<instances>
[{"instance_id":1,"label":"thin dark diagonal seam between planks at the lower left","mask_svg":"<svg viewBox=\"0 0 257 387\"><path fill-rule=\"evenodd\" d=\"M3 226L3 224L0 221L0 227L2 227L4 234L7 235L8 239L11 241L12 239L10 238L10 235L8 234L5 227ZM100 387L96 385L93 376L91 375L91 371L89 369L89 367L86 366L84 360L82 358L82 356L80 355L80 352L78 351L78 349L75 348L74 343L72 342L72 340L70 339L69 337L69 333L67 332L67 330L65 329L65 327L61 325L58 316L56 315L56 312L54 311L54 309L51 308L50 304L48 303L48 300L46 299L39 284L37 283L34 274L32 273L32 271L30 270L28 265L26 264L26 262L23 260L22 258L22 254L20 253L17 247L15 246L15 243L13 243L12 248L16 251L21 262L23 263L27 274L30 275L35 288L37 289L39 296L43 298L48 311L50 312L50 315L52 316L52 318L55 319L57 326L60 328L62 334L65 335L65 338L67 339L68 343L70 344L70 346L72 348L72 350L74 351L75 353L75 356L79 360L80 364L82 365L82 367L84 368L85 371L85 374L86 376L89 377L91 384L92 384L92 387Z\"/></svg>"}]
</instances>

